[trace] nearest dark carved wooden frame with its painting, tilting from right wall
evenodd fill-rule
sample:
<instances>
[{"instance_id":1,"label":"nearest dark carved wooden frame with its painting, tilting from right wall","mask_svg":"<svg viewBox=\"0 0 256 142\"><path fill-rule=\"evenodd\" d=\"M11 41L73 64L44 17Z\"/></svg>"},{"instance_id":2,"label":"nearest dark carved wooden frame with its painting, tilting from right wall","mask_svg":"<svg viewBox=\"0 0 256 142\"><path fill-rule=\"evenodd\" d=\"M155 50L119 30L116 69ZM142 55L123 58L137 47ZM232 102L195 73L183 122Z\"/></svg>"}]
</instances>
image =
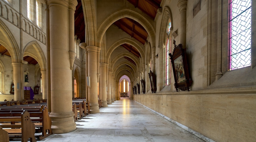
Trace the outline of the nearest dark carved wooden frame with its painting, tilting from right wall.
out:
<instances>
[{"instance_id":1,"label":"nearest dark carved wooden frame with its painting, tilting from right wall","mask_svg":"<svg viewBox=\"0 0 256 142\"><path fill-rule=\"evenodd\" d=\"M173 75L174 75L174 87L178 92L178 89L182 91L189 91L189 87L192 84L192 79L189 76L189 68L187 63L186 48L182 48L182 44L176 46L175 40L173 40L174 49L173 54L169 53Z\"/></svg>"}]
</instances>

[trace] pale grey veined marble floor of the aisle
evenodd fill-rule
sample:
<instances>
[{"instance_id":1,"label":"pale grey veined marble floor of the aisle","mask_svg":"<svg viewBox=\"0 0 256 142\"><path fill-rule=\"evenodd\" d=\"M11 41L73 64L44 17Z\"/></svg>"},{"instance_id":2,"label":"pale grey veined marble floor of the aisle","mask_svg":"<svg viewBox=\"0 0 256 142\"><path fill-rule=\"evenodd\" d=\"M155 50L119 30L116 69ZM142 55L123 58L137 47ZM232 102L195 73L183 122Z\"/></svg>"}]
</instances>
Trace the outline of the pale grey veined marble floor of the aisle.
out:
<instances>
[{"instance_id":1,"label":"pale grey veined marble floor of the aisle","mask_svg":"<svg viewBox=\"0 0 256 142\"><path fill-rule=\"evenodd\" d=\"M47 142L187 142L204 141L151 110L129 99L121 99L76 121L77 129L53 134Z\"/></svg>"}]
</instances>

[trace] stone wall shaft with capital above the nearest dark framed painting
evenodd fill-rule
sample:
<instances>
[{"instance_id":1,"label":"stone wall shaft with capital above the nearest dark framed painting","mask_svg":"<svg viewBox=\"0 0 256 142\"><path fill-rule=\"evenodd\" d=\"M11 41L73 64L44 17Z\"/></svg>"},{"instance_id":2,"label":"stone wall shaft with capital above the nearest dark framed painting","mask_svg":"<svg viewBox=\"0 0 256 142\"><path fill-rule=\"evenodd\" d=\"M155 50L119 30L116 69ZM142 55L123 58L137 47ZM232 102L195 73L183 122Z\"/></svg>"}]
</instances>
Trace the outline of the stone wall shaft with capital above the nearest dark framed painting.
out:
<instances>
[{"instance_id":1,"label":"stone wall shaft with capital above the nearest dark framed painting","mask_svg":"<svg viewBox=\"0 0 256 142\"><path fill-rule=\"evenodd\" d=\"M178 3L179 13L180 13L180 43L183 48L186 48L186 10L187 10L187 0L179 0Z\"/></svg>"}]
</instances>

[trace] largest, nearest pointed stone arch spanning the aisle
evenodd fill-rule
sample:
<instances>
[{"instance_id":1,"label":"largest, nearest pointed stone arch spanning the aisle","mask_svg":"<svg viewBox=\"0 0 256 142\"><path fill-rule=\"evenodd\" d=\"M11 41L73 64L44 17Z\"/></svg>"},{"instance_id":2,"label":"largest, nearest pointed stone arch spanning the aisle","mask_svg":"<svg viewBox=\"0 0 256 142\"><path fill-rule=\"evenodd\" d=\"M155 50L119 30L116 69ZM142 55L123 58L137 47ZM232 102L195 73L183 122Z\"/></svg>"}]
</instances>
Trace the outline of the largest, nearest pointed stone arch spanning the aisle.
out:
<instances>
[{"instance_id":1,"label":"largest, nearest pointed stone arch spanning the aisle","mask_svg":"<svg viewBox=\"0 0 256 142\"><path fill-rule=\"evenodd\" d=\"M136 20L138 23L140 23L148 32L149 37L153 40L152 45L155 45L154 39L155 39L156 32L155 32L155 26L152 25L152 23L155 23L155 22L150 18L142 16L138 12L135 12L131 9L124 8L124 9L118 9L112 12L112 14L101 23L97 31L97 39L99 41L97 46L101 45L103 35L105 34L109 26L113 24L115 21L125 17L131 18L133 20Z\"/></svg>"}]
</instances>

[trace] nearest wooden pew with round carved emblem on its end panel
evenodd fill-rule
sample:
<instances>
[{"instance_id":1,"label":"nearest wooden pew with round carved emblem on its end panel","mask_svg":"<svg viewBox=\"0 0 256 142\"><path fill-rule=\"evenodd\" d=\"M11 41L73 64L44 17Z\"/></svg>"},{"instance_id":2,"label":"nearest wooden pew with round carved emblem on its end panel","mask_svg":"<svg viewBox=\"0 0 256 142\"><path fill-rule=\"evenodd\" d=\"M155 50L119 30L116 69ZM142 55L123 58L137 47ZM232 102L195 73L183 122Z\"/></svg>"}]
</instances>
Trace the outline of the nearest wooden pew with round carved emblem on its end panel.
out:
<instances>
[{"instance_id":1,"label":"nearest wooden pew with round carved emblem on its end panel","mask_svg":"<svg viewBox=\"0 0 256 142\"><path fill-rule=\"evenodd\" d=\"M30 142L35 142L35 124L30 121L30 115L29 112L24 110L24 112L20 115L20 117L0 117L1 122L1 133L0 137L6 138L6 133L2 133L3 131L6 131L8 133L8 136L10 139L13 138L20 138L22 141L28 141L30 139ZM19 122L20 124L9 124L12 122ZM4 124L6 123L6 124ZM9 129L8 129L9 128ZM15 129L10 129L15 128Z\"/></svg>"}]
</instances>

